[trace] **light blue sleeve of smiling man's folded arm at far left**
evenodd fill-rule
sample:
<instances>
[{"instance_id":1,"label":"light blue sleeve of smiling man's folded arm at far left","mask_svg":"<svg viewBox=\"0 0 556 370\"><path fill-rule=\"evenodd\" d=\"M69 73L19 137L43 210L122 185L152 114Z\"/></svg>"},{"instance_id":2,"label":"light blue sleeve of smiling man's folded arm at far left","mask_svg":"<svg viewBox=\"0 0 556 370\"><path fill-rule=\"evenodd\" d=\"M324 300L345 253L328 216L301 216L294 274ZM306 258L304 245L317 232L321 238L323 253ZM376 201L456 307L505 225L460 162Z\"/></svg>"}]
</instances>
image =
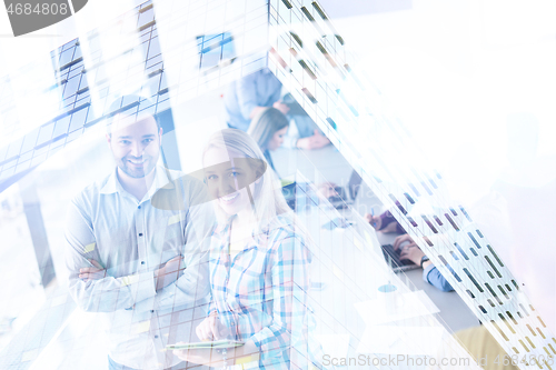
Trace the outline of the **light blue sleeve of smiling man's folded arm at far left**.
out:
<instances>
[{"instance_id":1,"label":"light blue sleeve of smiling man's folded arm at far left","mask_svg":"<svg viewBox=\"0 0 556 370\"><path fill-rule=\"evenodd\" d=\"M131 308L136 302L156 294L152 271L127 277L83 281L81 268L91 267L88 259L100 264L92 222L76 201L70 203L66 222L66 266L69 271L69 291L77 304L89 312L112 312ZM109 270L108 272L109 273Z\"/></svg>"}]
</instances>

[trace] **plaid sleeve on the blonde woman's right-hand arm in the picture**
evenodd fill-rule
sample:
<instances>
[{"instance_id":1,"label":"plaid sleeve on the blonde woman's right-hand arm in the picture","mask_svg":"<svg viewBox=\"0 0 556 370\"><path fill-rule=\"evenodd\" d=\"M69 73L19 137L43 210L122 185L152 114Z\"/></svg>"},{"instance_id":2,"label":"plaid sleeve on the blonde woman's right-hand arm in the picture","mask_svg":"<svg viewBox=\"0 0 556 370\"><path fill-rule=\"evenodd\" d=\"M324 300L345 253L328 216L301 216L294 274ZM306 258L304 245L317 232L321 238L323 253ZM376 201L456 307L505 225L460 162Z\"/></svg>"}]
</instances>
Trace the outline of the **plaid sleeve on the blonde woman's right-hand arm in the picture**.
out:
<instances>
[{"instance_id":1,"label":"plaid sleeve on the blonde woman's right-hand arm in the picture","mask_svg":"<svg viewBox=\"0 0 556 370\"><path fill-rule=\"evenodd\" d=\"M272 323L250 340L266 352L280 357L289 348L300 347L307 319L310 252L296 237L284 239L271 256Z\"/></svg>"}]
</instances>

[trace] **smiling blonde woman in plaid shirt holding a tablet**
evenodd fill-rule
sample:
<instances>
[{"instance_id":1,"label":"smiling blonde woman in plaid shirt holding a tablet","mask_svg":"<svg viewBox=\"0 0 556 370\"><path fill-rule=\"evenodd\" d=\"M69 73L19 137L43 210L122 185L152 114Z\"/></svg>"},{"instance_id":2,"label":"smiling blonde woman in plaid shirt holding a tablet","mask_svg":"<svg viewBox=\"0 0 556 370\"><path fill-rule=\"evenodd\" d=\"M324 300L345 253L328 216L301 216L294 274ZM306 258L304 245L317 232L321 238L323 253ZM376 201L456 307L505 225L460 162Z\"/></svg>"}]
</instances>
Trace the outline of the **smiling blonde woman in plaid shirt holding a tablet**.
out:
<instances>
[{"instance_id":1,"label":"smiling blonde woman in plaid shirt holding a tablet","mask_svg":"<svg viewBox=\"0 0 556 370\"><path fill-rule=\"evenodd\" d=\"M298 353L307 358L311 253L264 158L236 129L217 132L205 149L205 181L219 224L209 258L211 302L196 333L202 341L245 342L228 350L227 364L240 359L260 369L306 368ZM225 360L209 349L175 353L210 366Z\"/></svg>"}]
</instances>

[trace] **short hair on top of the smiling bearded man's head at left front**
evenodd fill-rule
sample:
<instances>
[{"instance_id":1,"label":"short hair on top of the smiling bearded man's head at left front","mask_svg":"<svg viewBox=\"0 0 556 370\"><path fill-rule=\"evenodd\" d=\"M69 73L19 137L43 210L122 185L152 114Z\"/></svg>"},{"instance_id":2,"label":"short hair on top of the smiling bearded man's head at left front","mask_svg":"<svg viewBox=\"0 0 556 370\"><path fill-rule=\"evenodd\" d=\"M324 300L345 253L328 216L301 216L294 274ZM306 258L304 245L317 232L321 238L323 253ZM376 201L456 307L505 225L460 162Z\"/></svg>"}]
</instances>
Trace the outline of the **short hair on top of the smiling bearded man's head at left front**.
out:
<instances>
[{"instance_id":1,"label":"short hair on top of the smiling bearded man's head at left front","mask_svg":"<svg viewBox=\"0 0 556 370\"><path fill-rule=\"evenodd\" d=\"M111 136L112 133L111 127L113 123L113 118L117 114L123 114L123 116L136 114L137 119L137 117L140 117L141 114L145 113L148 113L149 116L152 116L152 118L155 118L155 121L157 122L157 131L160 131L160 122L159 118L156 114L156 109L157 109L156 102L148 98L136 94L119 97L118 99L115 99L110 103L110 107L106 112L107 117L106 131L108 136Z\"/></svg>"}]
</instances>

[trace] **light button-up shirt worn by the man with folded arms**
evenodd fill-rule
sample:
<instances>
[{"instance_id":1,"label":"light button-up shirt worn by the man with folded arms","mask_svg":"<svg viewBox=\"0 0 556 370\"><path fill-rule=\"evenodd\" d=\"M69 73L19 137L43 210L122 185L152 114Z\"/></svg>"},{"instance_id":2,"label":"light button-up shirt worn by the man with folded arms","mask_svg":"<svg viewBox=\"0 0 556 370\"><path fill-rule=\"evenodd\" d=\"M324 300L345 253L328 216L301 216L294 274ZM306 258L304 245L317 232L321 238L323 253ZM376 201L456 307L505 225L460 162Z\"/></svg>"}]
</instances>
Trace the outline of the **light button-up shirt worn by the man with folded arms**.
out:
<instances>
[{"instance_id":1,"label":"light button-up shirt worn by the man with folded arms","mask_svg":"<svg viewBox=\"0 0 556 370\"><path fill-rule=\"evenodd\" d=\"M178 330L191 311L185 310L208 301L212 208L202 182L180 176L158 167L138 201L123 190L115 170L87 187L68 210L70 293L81 309L102 312L110 357L135 369L180 362L165 348L189 341L189 330ZM155 270L176 256L183 256L183 274L157 292ZM79 269L91 267L88 259L105 267L107 277L79 279Z\"/></svg>"}]
</instances>

